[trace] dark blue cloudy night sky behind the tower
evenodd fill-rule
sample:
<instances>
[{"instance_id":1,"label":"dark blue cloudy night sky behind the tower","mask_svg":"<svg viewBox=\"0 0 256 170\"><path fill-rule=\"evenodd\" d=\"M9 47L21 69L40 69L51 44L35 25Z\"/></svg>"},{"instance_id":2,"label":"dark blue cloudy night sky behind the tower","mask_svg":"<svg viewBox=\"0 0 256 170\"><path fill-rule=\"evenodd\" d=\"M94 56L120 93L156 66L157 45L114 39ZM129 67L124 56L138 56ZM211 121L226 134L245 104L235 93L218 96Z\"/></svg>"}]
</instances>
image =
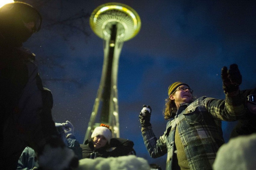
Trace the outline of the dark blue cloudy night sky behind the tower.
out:
<instances>
[{"instance_id":1,"label":"dark blue cloudy night sky behind the tower","mask_svg":"<svg viewBox=\"0 0 256 170\"><path fill-rule=\"evenodd\" d=\"M52 0L41 10L49 10L52 17L82 9L91 14L107 2L112 1ZM236 63L243 77L240 89L255 88L256 1L115 2L132 7L142 22L138 35L124 42L120 54L120 137L134 142L137 156L164 169L166 156L151 159L144 146L138 118L142 105L151 106L151 124L159 137L167 123L163 109L171 83L189 84L197 97L224 99L221 68ZM63 9L61 15L55 8ZM69 120L82 143L100 83L103 40L90 29L89 18L85 23L88 36L77 32L64 38L61 27L46 29L46 25L23 46L36 54L43 84L52 91L54 121ZM233 125L223 122L225 141Z\"/></svg>"}]
</instances>

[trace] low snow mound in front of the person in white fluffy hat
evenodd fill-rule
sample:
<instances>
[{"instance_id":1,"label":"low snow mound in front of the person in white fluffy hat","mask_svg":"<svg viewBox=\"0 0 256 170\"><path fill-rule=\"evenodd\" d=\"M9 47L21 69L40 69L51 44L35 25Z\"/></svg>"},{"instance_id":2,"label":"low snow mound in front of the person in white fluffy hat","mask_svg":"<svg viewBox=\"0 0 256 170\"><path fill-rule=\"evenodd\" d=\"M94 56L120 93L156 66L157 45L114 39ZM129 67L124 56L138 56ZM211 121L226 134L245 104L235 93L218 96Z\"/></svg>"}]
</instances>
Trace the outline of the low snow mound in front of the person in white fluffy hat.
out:
<instances>
[{"instance_id":1,"label":"low snow mound in front of the person in white fluffy hat","mask_svg":"<svg viewBox=\"0 0 256 170\"><path fill-rule=\"evenodd\" d=\"M148 161L135 155L80 159L76 170L149 170Z\"/></svg>"}]
</instances>

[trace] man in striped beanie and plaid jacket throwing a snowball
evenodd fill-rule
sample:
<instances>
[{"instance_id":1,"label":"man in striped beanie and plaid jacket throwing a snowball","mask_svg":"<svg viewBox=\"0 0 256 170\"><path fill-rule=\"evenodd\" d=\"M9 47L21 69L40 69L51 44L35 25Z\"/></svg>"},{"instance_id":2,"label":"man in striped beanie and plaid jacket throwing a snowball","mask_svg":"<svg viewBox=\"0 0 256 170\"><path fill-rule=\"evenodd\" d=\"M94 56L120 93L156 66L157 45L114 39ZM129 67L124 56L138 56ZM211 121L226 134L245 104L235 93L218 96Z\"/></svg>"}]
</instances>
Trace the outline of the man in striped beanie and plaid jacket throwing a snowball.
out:
<instances>
[{"instance_id":1,"label":"man in striped beanie and plaid jacket throwing a snowball","mask_svg":"<svg viewBox=\"0 0 256 170\"><path fill-rule=\"evenodd\" d=\"M242 76L236 64L221 70L225 100L207 96L194 99L193 90L182 82L168 88L163 135L156 138L150 123L151 108L143 105L139 115L142 137L152 158L167 153L166 169L212 169L218 148L224 143L221 120L241 118L245 106L239 95Z\"/></svg>"}]
</instances>

